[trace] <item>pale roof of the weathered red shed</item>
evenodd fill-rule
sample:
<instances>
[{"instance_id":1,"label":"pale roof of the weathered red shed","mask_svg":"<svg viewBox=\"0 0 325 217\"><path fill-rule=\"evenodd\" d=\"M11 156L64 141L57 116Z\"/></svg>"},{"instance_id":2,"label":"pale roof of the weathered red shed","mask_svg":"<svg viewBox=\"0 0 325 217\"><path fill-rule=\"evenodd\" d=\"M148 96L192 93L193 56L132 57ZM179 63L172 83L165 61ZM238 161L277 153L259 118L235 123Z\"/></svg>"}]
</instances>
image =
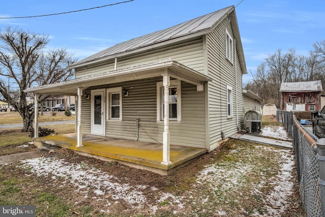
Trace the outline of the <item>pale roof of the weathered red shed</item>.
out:
<instances>
[{"instance_id":1,"label":"pale roof of the weathered red shed","mask_svg":"<svg viewBox=\"0 0 325 217\"><path fill-rule=\"evenodd\" d=\"M322 91L321 81L282 82L280 92L313 92Z\"/></svg>"}]
</instances>

